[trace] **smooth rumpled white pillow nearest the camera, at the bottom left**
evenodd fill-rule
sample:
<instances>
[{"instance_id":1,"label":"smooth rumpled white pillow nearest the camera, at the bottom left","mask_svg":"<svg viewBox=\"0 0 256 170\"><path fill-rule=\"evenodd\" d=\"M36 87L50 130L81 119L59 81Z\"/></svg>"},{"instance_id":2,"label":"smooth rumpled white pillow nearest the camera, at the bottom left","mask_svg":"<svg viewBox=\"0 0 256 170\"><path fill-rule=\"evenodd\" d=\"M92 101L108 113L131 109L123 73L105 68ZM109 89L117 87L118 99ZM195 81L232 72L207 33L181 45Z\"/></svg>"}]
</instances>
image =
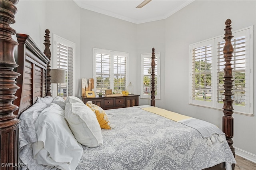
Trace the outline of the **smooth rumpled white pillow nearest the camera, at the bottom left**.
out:
<instances>
[{"instance_id":1,"label":"smooth rumpled white pillow nearest the camera, at the bottom left","mask_svg":"<svg viewBox=\"0 0 256 170\"><path fill-rule=\"evenodd\" d=\"M55 103L50 104L39 115L35 127L38 140L32 146L38 164L76 169L83 149L68 127L64 110Z\"/></svg>"}]
</instances>

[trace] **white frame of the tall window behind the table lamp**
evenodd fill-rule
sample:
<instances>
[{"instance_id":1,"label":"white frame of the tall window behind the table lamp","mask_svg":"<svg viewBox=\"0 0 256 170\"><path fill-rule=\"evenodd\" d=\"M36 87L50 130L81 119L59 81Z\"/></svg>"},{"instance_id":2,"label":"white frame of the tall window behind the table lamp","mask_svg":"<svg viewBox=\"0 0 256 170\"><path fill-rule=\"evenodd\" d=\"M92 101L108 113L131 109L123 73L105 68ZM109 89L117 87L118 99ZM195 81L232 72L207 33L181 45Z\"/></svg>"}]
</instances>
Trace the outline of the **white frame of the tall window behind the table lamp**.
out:
<instances>
[{"instance_id":1,"label":"white frame of the tall window behind the table lamp","mask_svg":"<svg viewBox=\"0 0 256 170\"><path fill-rule=\"evenodd\" d=\"M76 43L71 42L70 40L67 40L65 38L62 38L56 34L53 34L53 57L52 57L52 69L57 69L57 53L58 53L58 45L57 43L62 43L65 44L68 47L72 47L73 48L73 95L76 94L76 81L75 81L75 63L76 63ZM58 88L57 88L57 84L51 84L52 86L52 97L56 97L58 95Z\"/></svg>"}]
</instances>

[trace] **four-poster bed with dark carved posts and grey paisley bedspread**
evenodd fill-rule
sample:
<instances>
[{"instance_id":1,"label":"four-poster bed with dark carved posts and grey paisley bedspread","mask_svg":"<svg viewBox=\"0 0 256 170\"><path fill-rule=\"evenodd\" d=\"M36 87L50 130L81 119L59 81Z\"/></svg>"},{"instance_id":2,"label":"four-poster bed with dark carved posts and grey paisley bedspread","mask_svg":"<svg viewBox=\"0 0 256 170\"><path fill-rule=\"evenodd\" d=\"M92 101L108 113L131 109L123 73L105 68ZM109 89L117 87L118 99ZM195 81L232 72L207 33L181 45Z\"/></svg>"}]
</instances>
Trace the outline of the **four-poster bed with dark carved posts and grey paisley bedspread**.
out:
<instances>
[{"instance_id":1,"label":"four-poster bed with dark carved posts and grey paisley bedspread","mask_svg":"<svg viewBox=\"0 0 256 170\"><path fill-rule=\"evenodd\" d=\"M18 43L12 39L16 32L10 24L15 22L17 2L1 1L1 169L234 169L236 161L232 146L231 20L228 19L225 23L226 43L223 50L226 61L222 120L224 133L217 130L218 132L203 137L203 132L198 128L186 124L184 120L187 120L187 117L179 118L181 121L171 120L158 115L159 111L155 112L161 109L155 107L154 48L150 106L103 111L91 103L85 105L76 97L69 97L66 101L52 98L50 31L46 29L44 36L44 53L30 36L17 34L17 63L14 59L13 51ZM77 115L81 113L81 108L88 115L98 112L105 114L108 119L104 120L108 121L104 125L111 129L102 128L95 115L86 117L88 120L98 121L90 126L86 124L93 127L91 133L95 130L93 141L88 143L82 135L76 134L76 127L71 121L74 120L74 114L66 114L76 108ZM180 116L166 110L161 110L161 113ZM81 118L84 115L79 116ZM40 127L45 122L52 121L51 119L55 120L52 129L62 127L62 131L58 131L60 134L55 131L48 133L44 127ZM69 143L64 145L64 140L60 140L61 144L46 147L48 140L46 141L45 136L41 134L45 134L51 142L68 137L69 140L65 142L72 145L70 148L72 147L73 151L64 152L70 149L66 147ZM66 153L69 154L65 155ZM51 159L46 160L49 154ZM61 162L63 160L66 161ZM42 165L43 163L45 164Z\"/></svg>"}]
</instances>

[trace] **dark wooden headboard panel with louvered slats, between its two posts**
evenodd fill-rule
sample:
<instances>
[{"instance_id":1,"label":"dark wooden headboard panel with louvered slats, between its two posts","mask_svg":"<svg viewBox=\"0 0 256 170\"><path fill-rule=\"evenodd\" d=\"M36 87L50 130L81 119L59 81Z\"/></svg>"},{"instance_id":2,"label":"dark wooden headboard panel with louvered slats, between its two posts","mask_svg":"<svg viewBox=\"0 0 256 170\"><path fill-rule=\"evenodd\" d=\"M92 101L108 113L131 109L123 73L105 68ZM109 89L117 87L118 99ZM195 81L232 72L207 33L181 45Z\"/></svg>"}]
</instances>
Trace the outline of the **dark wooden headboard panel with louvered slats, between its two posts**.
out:
<instances>
[{"instance_id":1,"label":"dark wooden headboard panel with louvered slats, between its two posts","mask_svg":"<svg viewBox=\"0 0 256 170\"><path fill-rule=\"evenodd\" d=\"M16 71L21 73L17 78L20 89L17 90L18 99L14 101L19 109L14 112L19 117L22 111L32 106L38 97L44 97L46 90L46 75L49 59L40 51L36 43L26 34L16 34L18 40L18 63Z\"/></svg>"}]
</instances>

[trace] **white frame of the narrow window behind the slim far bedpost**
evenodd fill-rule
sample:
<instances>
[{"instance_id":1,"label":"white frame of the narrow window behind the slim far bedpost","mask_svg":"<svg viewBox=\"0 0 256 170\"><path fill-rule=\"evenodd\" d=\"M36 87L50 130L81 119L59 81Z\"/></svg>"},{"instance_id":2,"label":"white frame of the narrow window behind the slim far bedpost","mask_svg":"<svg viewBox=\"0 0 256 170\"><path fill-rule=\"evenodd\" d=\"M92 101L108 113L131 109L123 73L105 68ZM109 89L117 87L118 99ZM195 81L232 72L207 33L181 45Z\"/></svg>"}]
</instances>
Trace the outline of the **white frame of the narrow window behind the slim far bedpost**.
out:
<instances>
[{"instance_id":1,"label":"white frame of the narrow window behind the slim far bedpost","mask_svg":"<svg viewBox=\"0 0 256 170\"><path fill-rule=\"evenodd\" d=\"M141 99L151 99L151 89L149 94L144 94L144 87L143 87L143 81L144 81L144 58L150 58L152 57L152 53L143 53L140 55L140 98ZM155 57L157 59L157 69L155 69L155 73L157 76L157 85L155 84L156 89L156 98L160 99L160 87L161 87L161 54L160 52L155 53ZM150 66L150 87L151 87L151 66Z\"/></svg>"}]
</instances>

